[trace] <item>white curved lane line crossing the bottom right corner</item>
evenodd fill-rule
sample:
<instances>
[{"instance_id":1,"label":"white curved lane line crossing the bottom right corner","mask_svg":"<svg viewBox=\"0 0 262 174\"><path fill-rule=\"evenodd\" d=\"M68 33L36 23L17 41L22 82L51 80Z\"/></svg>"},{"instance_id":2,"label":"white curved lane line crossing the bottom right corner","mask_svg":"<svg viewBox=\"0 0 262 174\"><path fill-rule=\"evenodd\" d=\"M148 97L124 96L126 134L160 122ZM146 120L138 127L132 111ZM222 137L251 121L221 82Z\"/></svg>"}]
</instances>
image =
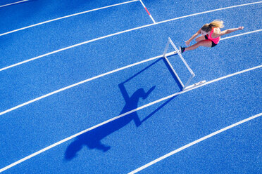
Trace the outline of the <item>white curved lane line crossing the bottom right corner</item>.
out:
<instances>
[{"instance_id":1,"label":"white curved lane line crossing the bottom right corner","mask_svg":"<svg viewBox=\"0 0 262 174\"><path fill-rule=\"evenodd\" d=\"M209 134L209 135L206 135L205 137L200 138L199 140L195 140L194 142L191 142L191 143L189 143L189 144L187 144L187 145L185 145L185 146L183 146L183 147L180 147L179 149L175 149L173 152L170 152L170 153L168 153L168 154L166 154L166 155L164 155L164 156L161 156L160 158L155 159L154 161L151 161L150 163L147 163L146 165L144 165L144 166L142 166L142 167L140 167L140 168L137 168L136 170L133 170L132 172L130 172L130 173L128 173L128 174L134 174L134 173L137 173L137 172L139 172L139 171L141 171L141 170L144 170L144 168L148 168L149 166L152 166L154 163L158 163L159 161L161 161L161 160L163 160L163 159L166 159L166 158L168 158L169 156L171 156L171 155L173 155L173 154L176 154L177 152L180 152L180 151L182 151L182 150L184 150L184 149L187 149L188 147L191 147L192 145L196 145L196 143L199 143L199 142L204 141L204 140L206 140L206 139L208 139L208 138L211 138L211 137L213 137L213 136L215 136L215 135L218 135L218 133L223 133L224 131L227 131L227 130L230 129L230 128L234 128L235 126L239 126L239 125L242 124L242 123L245 123L245 122L247 122L247 121L251 121L252 119L256 119L256 118L258 118L258 117L261 116L261 115L262 115L262 113L256 114L256 115L251 116L251 117L249 117L249 118L247 118L247 119L244 119L244 120L239 121L239 122L237 122L237 123L234 123L234 124L232 124L232 125L230 125L230 126L227 126L227 127L225 127L225 128L222 128L222 129L220 129L219 131L216 131L216 132L214 132L214 133L211 133L211 134Z\"/></svg>"}]
</instances>

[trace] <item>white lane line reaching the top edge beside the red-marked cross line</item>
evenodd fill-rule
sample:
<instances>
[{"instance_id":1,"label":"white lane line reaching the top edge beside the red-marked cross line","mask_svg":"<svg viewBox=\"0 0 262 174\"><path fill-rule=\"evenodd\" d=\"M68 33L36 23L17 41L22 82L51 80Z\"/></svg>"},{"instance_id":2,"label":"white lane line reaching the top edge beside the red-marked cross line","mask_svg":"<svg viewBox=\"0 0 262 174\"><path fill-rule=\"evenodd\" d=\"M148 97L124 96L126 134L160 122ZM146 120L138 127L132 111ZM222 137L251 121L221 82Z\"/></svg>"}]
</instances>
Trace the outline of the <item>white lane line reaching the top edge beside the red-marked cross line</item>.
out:
<instances>
[{"instance_id":1,"label":"white lane line reaching the top edge beside the red-marked cross line","mask_svg":"<svg viewBox=\"0 0 262 174\"><path fill-rule=\"evenodd\" d=\"M5 33L2 33L0 34L0 36L4 36L6 34L11 34L13 32L18 32L18 31L21 31L23 29L28 29L28 28L31 28L31 27L36 27L38 25L43 25L43 24L46 24L46 23L49 23L49 22L54 22L56 20L61 20L61 19L65 19L65 18L70 18L70 17L73 17L75 15L82 15L82 14L85 14L85 13L89 13L89 12L92 12L92 11L99 11L101 9L104 9L104 8L111 8L113 6L120 6L120 5L123 5L123 4L128 4L128 3L132 3L132 2L135 2L135 1L139 1L139 0L132 0L132 1L126 1L126 2L123 2L123 3L119 3L119 4L113 4L113 5L110 5L110 6L104 6L104 7L101 7L101 8L95 8L95 9L92 9L92 10L89 10L89 11L83 11L83 12L80 12L80 13L75 13L75 14L72 14L72 15L66 15L66 16L63 16L61 18L56 18L56 19L53 19L53 20L46 20L44 22L39 22L37 24L34 24L34 25L30 25L30 26L27 26L27 27L23 27L23 28L19 28L19 29L15 29L15 30L12 30L10 32L5 32Z\"/></svg>"}]
</instances>

